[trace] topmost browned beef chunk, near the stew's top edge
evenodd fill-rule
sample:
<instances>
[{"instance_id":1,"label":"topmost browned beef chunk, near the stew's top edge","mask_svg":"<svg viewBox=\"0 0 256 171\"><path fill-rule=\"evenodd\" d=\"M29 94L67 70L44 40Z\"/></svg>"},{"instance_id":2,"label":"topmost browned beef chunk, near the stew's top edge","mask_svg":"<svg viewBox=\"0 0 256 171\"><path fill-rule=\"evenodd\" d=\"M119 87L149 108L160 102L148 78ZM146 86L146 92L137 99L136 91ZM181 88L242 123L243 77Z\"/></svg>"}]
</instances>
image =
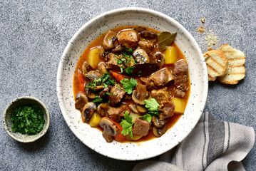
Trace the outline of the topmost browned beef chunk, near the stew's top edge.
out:
<instances>
[{"instance_id":1,"label":"topmost browned beef chunk, near the stew's top edge","mask_svg":"<svg viewBox=\"0 0 256 171\"><path fill-rule=\"evenodd\" d=\"M138 43L138 34L133 29L120 31L117 35L118 42L126 48L135 48Z\"/></svg>"}]
</instances>

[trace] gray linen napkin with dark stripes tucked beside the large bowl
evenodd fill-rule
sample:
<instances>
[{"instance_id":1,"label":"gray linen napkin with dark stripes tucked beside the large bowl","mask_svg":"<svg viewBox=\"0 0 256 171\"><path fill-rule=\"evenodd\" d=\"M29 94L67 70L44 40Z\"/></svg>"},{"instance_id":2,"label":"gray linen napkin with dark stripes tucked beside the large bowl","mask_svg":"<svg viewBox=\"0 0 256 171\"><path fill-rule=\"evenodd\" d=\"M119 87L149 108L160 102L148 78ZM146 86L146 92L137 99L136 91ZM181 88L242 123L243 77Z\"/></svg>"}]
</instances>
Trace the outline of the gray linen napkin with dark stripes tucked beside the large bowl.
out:
<instances>
[{"instance_id":1,"label":"gray linen napkin with dark stripes tucked beside the large bowl","mask_svg":"<svg viewBox=\"0 0 256 171\"><path fill-rule=\"evenodd\" d=\"M159 161L138 163L133 171L245 170L241 160L254 143L253 128L216 120L206 112L180 145L161 155Z\"/></svg>"}]
</instances>

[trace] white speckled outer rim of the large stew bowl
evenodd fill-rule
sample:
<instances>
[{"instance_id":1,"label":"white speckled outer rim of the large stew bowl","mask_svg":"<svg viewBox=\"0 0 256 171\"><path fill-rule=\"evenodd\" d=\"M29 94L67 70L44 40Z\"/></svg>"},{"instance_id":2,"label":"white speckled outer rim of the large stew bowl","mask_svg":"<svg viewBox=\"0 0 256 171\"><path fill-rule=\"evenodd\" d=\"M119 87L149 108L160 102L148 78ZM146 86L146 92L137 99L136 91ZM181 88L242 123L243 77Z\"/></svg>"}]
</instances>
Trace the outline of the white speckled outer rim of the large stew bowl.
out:
<instances>
[{"instance_id":1,"label":"white speckled outer rim of the large stew bowl","mask_svg":"<svg viewBox=\"0 0 256 171\"><path fill-rule=\"evenodd\" d=\"M173 147L169 147L168 149L165 149L164 151L159 151L159 152L154 152L153 154L145 154L145 155L134 155L134 156L129 156L129 157L120 157L118 155L113 155L113 154L106 154L104 152L101 152L101 150L96 149L96 145L90 144L90 143L86 143L85 141L83 141L84 137L82 135L80 135L79 133L76 133L76 127L72 125L72 123L68 123L68 111L66 111L65 109L65 103L64 103L64 98L62 95L62 87L61 87L61 75L63 73L61 66L63 65L63 61L66 61L67 56L66 54L68 53L68 51L70 51L73 48L73 42L74 40L78 39L78 37L80 36L81 32L86 28L89 27L90 24L93 24L94 21L100 21L101 18L103 18L104 16L108 16L108 15L113 15L113 14L118 14L121 13L122 11L131 11L131 12L146 12L148 14L152 14L154 16L161 16L162 18L165 18L167 21L171 21L173 24L175 24L176 26L178 26L179 28L181 28L182 31L184 31L184 33L186 34L186 36L188 36L188 38L190 39L190 41L193 43L193 48L196 48L196 51L198 54L200 54L199 58L200 58L200 63L202 63L202 67L203 67L203 90L204 90L204 94L200 100L200 108L198 109L198 111L200 111L200 115L197 115L195 118L193 118L193 122L192 122L192 126L189 128L189 130L186 130L186 133L183 133L183 135L180 135L180 137L178 138L177 141L175 141L175 145L173 147L175 147L176 145L178 145L182 140L184 140L185 137L187 137L189 135L189 133L193 130L193 128L195 128L195 125L198 123L198 120L200 119L200 116L203 113L203 110L205 108L205 103L206 103L206 99L207 99L207 95L208 95L208 73L207 73L207 68L206 68L206 64L205 64L205 59L203 58L203 53L200 50L200 47L198 46L198 43L195 41L195 38L193 38L193 36L181 25L178 23L178 21L175 21L174 19L172 19L170 16L167 16L165 14L162 14L158 11L154 11L152 9L143 9L143 8L138 8L138 7L129 7L129 8L121 8L121 9L114 9L111 11L107 11L103 14L100 14L98 16L96 16L95 18L91 19L90 21L88 21L86 24L84 24L78 31L76 31L76 33L73 35L73 37L71 38L70 41L68 41L68 45L66 46L65 50L63 51L63 55L61 56L61 61L59 63L58 66L58 73L57 73L57 83L56 83L56 88L57 88L57 96L58 96L58 104L61 108L61 113L63 115L64 120L66 120L66 123L68 125L68 127L71 129L71 131L76 135L76 137L81 140L85 145L87 145L88 147L90 147L92 150L95 150L96 152L100 153L101 155L105 155L106 157L111 157L114 159L118 159L118 160L145 160L148 159L150 157L155 157L157 155L161 155L164 152L172 149ZM63 60L63 61L62 61ZM92 128L93 129L93 128ZM119 143L119 142L118 142Z\"/></svg>"}]
</instances>

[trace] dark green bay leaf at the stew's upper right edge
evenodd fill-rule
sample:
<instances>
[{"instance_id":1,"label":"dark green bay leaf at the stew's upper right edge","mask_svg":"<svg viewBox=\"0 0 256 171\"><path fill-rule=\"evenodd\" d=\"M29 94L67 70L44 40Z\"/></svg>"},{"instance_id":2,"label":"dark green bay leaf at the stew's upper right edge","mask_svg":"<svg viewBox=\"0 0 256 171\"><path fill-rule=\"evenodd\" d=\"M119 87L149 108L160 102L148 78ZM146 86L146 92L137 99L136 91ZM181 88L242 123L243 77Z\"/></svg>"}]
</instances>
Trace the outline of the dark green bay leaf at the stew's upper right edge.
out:
<instances>
[{"instance_id":1,"label":"dark green bay leaf at the stew's upper right edge","mask_svg":"<svg viewBox=\"0 0 256 171\"><path fill-rule=\"evenodd\" d=\"M165 48L170 46L170 43L173 43L177 33L170 33L169 31L163 31L158 34L158 46L161 51L164 51Z\"/></svg>"}]
</instances>

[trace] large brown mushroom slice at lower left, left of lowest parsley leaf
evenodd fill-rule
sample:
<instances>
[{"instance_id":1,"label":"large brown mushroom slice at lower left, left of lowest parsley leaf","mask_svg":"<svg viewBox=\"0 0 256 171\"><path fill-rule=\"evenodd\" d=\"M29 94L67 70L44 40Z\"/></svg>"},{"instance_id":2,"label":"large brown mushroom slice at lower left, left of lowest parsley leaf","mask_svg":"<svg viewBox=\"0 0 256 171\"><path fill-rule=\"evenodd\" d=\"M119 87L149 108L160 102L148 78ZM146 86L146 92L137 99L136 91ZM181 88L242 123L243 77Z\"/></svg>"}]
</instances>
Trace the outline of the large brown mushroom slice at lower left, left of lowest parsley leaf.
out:
<instances>
[{"instance_id":1,"label":"large brown mushroom slice at lower left, left of lowest parsley leaf","mask_svg":"<svg viewBox=\"0 0 256 171\"><path fill-rule=\"evenodd\" d=\"M101 128L104 128L104 131L107 131L108 135L116 136L119 133L119 129L116 124L108 117L101 118L100 126Z\"/></svg>"}]
</instances>

